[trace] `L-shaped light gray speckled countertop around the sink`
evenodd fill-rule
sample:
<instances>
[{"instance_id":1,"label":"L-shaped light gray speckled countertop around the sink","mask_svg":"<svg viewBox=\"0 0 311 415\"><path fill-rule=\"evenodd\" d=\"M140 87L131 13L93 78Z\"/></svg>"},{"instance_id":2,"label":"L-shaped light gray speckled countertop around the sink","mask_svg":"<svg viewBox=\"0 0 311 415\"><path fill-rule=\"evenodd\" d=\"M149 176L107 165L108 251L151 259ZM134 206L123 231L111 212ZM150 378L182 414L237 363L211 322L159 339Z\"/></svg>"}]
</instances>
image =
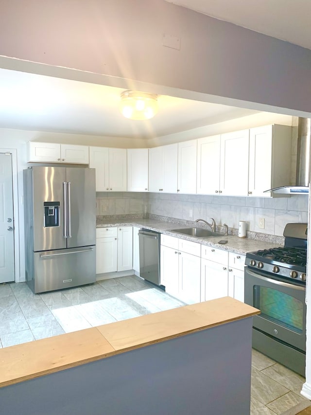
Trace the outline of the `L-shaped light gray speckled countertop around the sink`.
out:
<instances>
[{"instance_id":1,"label":"L-shaped light gray speckled countertop around the sink","mask_svg":"<svg viewBox=\"0 0 311 415\"><path fill-rule=\"evenodd\" d=\"M223 236L210 236L208 238L199 238L196 236L182 235L176 232L172 232L172 229L176 228L190 228L190 226L180 225L174 221L159 221L155 219L143 219L143 218L118 218L118 219L105 219L104 217L98 217L96 227L97 228L108 228L117 226L137 226L139 228L149 229L151 231L159 232L164 235L170 235L188 241L197 242L202 245L213 246L221 248L226 251L234 253L240 253L245 255L247 252L258 251L259 249L275 248L276 246L283 246L281 243L251 239L251 238L239 238L236 235L223 235ZM219 244L218 241L225 239L228 242Z\"/></svg>"}]
</instances>

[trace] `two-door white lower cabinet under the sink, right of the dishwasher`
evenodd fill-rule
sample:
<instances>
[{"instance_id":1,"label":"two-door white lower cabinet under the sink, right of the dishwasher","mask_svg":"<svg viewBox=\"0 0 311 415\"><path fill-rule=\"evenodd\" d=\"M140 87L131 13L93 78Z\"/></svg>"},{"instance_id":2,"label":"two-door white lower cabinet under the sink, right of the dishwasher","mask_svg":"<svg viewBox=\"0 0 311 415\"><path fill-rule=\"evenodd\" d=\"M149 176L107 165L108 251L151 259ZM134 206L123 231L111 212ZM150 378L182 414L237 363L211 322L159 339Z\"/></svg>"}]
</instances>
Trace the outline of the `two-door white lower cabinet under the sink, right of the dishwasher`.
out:
<instances>
[{"instance_id":1,"label":"two-door white lower cabinet under the sink, right of the dishwasher","mask_svg":"<svg viewBox=\"0 0 311 415\"><path fill-rule=\"evenodd\" d=\"M200 244L161 236L161 285L168 294L187 304L200 302Z\"/></svg>"}]
</instances>

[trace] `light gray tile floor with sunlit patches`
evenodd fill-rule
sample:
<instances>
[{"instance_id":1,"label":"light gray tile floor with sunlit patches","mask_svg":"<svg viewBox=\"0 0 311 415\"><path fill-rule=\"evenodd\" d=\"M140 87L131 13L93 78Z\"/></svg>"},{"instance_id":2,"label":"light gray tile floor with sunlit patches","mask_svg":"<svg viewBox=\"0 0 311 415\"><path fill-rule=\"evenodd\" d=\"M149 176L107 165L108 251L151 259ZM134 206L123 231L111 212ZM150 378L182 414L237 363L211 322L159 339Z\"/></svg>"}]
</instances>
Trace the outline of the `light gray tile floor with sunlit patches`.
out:
<instances>
[{"instance_id":1,"label":"light gray tile floor with sunlit patches","mask_svg":"<svg viewBox=\"0 0 311 415\"><path fill-rule=\"evenodd\" d=\"M135 275L43 294L34 294L26 283L2 284L0 348L183 305ZM304 381L253 350L251 415L302 411L311 404L300 395Z\"/></svg>"}]
</instances>

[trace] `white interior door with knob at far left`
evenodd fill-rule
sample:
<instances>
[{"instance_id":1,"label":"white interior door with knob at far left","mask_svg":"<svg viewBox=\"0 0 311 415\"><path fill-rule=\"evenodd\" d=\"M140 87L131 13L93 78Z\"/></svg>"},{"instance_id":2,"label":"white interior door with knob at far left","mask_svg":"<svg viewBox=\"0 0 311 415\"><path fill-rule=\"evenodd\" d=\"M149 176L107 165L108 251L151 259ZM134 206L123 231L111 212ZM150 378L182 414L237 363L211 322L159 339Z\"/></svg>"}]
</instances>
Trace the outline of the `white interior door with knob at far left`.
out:
<instances>
[{"instance_id":1,"label":"white interior door with knob at far left","mask_svg":"<svg viewBox=\"0 0 311 415\"><path fill-rule=\"evenodd\" d=\"M0 283L15 281L12 154L0 153Z\"/></svg>"}]
</instances>

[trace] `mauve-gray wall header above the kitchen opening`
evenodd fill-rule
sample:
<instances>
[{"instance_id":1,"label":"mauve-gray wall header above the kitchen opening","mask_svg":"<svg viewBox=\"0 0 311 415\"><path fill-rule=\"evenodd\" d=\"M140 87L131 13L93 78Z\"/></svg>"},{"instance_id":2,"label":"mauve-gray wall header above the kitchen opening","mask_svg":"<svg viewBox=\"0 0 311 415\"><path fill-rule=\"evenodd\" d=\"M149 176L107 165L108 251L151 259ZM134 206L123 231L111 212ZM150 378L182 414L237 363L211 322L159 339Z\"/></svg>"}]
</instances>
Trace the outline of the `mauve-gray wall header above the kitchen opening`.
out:
<instances>
[{"instance_id":1,"label":"mauve-gray wall header above the kitchen opening","mask_svg":"<svg viewBox=\"0 0 311 415\"><path fill-rule=\"evenodd\" d=\"M180 50L163 46L163 34L178 36ZM163 0L4 1L0 38L0 55L46 64L3 58L0 67L311 111L310 50Z\"/></svg>"}]
</instances>

